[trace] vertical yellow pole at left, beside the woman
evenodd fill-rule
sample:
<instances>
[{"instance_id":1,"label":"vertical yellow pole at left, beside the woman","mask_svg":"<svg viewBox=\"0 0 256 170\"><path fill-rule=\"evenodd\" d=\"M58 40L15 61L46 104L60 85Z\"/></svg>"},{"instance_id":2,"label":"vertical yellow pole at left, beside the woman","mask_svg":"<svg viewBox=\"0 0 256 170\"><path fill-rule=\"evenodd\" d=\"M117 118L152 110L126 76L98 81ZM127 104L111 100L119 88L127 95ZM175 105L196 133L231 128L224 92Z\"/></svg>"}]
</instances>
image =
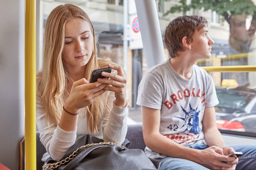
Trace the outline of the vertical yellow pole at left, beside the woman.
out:
<instances>
[{"instance_id":1,"label":"vertical yellow pole at left, beside the woman","mask_svg":"<svg viewBox=\"0 0 256 170\"><path fill-rule=\"evenodd\" d=\"M36 137L36 0L25 9L25 169L37 169Z\"/></svg>"}]
</instances>

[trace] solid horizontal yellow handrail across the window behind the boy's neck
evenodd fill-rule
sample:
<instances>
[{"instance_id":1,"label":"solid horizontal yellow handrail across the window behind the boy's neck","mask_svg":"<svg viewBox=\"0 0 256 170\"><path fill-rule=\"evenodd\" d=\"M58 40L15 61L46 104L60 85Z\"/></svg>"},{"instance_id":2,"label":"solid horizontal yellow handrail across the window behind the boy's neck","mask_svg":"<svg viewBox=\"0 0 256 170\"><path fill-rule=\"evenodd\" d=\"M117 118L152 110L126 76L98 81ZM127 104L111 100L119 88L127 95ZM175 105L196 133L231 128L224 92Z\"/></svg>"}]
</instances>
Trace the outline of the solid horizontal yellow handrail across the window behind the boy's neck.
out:
<instances>
[{"instance_id":1,"label":"solid horizontal yellow handrail across the window behind the boy's neck","mask_svg":"<svg viewBox=\"0 0 256 170\"><path fill-rule=\"evenodd\" d=\"M208 72L256 72L256 66L209 66L201 68Z\"/></svg>"}]
</instances>

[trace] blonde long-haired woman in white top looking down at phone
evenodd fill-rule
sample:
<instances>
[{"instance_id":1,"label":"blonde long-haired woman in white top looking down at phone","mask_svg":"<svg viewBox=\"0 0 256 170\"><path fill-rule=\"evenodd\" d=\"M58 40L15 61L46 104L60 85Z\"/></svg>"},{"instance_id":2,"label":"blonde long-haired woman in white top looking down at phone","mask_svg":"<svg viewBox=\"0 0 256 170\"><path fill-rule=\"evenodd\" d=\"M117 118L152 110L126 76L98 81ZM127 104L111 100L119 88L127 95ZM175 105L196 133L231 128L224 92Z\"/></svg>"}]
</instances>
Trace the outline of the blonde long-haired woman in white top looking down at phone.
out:
<instances>
[{"instance_id":1,"label":"blonde long-haired woman in white top looking down at phone","mask_svg":"<svg viewBox=\"0 0 256 170\"><path fill-rule=\"evenodd\" d=\"M108 79L89 83L91 72ZM44 61L37 74L37 127L47 153L59 160L86 134L121 144L127 132L128 102L122 68L97 58L95 32L79 7L56 7L45 26Z\"/></svg>"}]
</instances>

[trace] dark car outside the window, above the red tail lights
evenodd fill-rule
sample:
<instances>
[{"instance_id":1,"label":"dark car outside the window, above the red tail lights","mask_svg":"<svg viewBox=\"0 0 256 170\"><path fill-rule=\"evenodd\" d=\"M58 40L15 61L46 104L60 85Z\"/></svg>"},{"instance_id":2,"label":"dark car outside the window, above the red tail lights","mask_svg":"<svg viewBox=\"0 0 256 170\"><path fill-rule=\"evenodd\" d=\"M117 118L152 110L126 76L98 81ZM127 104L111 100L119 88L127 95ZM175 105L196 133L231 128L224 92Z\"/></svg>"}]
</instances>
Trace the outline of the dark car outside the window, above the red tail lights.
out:
<instances>
[{"instance_id":1,"label":"dark car outside the window, above the red tail lights","mask_svg":"<svg viewBox=\"0 0 256 170\"><path fill-rule=\"evenodd\" d=\"M216 88L219 104L215 106L216 120L231 120L256 113L256 90L246 88Z\"/></svg>"}]
</instances>

